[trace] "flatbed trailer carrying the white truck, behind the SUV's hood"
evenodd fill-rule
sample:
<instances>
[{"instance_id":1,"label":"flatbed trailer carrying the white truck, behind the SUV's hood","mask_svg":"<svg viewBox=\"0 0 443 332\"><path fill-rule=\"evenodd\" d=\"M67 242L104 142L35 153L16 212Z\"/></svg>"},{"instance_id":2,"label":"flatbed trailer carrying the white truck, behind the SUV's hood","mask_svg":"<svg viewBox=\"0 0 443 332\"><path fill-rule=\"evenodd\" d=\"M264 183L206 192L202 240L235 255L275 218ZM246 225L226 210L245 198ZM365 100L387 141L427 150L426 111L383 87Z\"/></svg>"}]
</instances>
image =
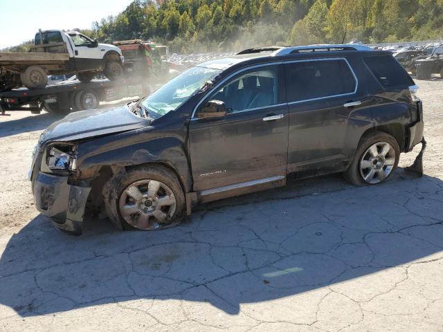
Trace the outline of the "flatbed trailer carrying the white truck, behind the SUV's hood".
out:
<instances>
[{"instance_id":1,"label":"flatbed trailer carrying the white truck, behind the SUV's hood","mask_svg":"<svg viewBox=\"0 0 443 332\"><path fill-rule=\"evenodd\" d=\"M150 93L150 86L143 80L92 80L89 83L63 82L42 89L19 88L0 92L0 112L30 111L42 109L51 113L70 113L84 109L96 109L100 102L125 97L143 97Z\"/></svg>"}]
</instances>

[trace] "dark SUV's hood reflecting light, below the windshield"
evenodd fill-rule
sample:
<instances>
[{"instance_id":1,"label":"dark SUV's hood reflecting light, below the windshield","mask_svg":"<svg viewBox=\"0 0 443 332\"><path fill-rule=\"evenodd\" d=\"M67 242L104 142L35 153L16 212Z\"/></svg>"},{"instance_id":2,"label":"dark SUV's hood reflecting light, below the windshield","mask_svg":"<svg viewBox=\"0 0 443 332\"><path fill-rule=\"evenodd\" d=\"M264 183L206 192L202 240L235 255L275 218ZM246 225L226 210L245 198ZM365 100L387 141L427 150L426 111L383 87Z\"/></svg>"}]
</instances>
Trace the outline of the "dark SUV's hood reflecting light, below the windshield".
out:
<instances>
[{"instance_id":1,"label":"dark SUV's hood reflecting light, below the windshield","mask_svg":"<svg viewBox=\"0 0 443 332\"><path fill-rule=\"evenodd\" d=\"M139 129L149 124L150 120L136 116L126 106L78 111L51 124L42 133L39 142L79 140Z\"/></svg>"}]
</instances>

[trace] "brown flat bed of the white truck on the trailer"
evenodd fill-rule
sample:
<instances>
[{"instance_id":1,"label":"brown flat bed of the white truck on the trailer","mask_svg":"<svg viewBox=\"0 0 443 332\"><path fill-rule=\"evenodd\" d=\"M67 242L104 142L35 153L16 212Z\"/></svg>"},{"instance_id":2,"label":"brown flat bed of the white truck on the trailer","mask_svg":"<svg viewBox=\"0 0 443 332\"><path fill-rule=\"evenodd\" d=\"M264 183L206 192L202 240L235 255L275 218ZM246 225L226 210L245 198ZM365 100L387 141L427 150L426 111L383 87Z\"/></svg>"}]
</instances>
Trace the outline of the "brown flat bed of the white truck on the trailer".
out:
<instances>
[{"instance_id":1,"label":"brown flat bed of the white truck on the trailer","mask_svg":"<svg viewBox=\"0 0 443 332\"><path fill-rule=\"evenodd\" d=\"M68 60L68 53L0 53L0 66L14 64L54 64Z\"/></svg>"}]
</instances>

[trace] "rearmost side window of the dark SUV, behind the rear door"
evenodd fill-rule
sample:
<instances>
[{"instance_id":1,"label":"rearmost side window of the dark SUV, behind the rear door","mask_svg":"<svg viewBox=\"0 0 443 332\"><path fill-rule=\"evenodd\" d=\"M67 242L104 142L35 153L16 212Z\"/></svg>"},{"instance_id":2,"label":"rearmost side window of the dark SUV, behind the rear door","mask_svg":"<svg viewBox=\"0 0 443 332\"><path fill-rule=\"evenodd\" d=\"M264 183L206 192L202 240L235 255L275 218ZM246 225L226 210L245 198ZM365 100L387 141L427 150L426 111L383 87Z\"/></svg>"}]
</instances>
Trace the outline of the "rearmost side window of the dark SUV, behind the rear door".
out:
<instances>
[{"instance_id":1,"label":"rearmost side window of the dark SUV, behind the rear door","mask_svg":"<svg viewBox=\"0 0 443 332\"><path fill-rule=\"evenodd\" d=\"M384 88L400 88L414 84L408 73L392 55L365 57L364 61Z\"/></svg>"}]
</instances>

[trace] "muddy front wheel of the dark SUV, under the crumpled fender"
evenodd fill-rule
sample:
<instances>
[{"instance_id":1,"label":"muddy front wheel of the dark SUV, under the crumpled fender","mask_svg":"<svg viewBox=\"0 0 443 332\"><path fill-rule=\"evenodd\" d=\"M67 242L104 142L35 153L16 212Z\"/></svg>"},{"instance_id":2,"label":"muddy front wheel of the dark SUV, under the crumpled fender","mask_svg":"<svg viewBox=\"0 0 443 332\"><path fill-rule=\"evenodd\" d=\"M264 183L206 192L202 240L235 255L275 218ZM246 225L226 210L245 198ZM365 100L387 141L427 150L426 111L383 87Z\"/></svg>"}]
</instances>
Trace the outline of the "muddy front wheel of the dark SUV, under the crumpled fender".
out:
<instances>
[{"instance_id":1,"label":"muddy front wheel of the dark SUV, under the crumpled fender","mask_svg":"<svg viewBox=\"0 0 443 332\"><path fill-rule=\"evenodd\" d=\"M105 184L103 196L107 216L119 229L170 228L180 223L186 211L177 176L161 165L114 176Z\"/></svg>"}]
</instances>

